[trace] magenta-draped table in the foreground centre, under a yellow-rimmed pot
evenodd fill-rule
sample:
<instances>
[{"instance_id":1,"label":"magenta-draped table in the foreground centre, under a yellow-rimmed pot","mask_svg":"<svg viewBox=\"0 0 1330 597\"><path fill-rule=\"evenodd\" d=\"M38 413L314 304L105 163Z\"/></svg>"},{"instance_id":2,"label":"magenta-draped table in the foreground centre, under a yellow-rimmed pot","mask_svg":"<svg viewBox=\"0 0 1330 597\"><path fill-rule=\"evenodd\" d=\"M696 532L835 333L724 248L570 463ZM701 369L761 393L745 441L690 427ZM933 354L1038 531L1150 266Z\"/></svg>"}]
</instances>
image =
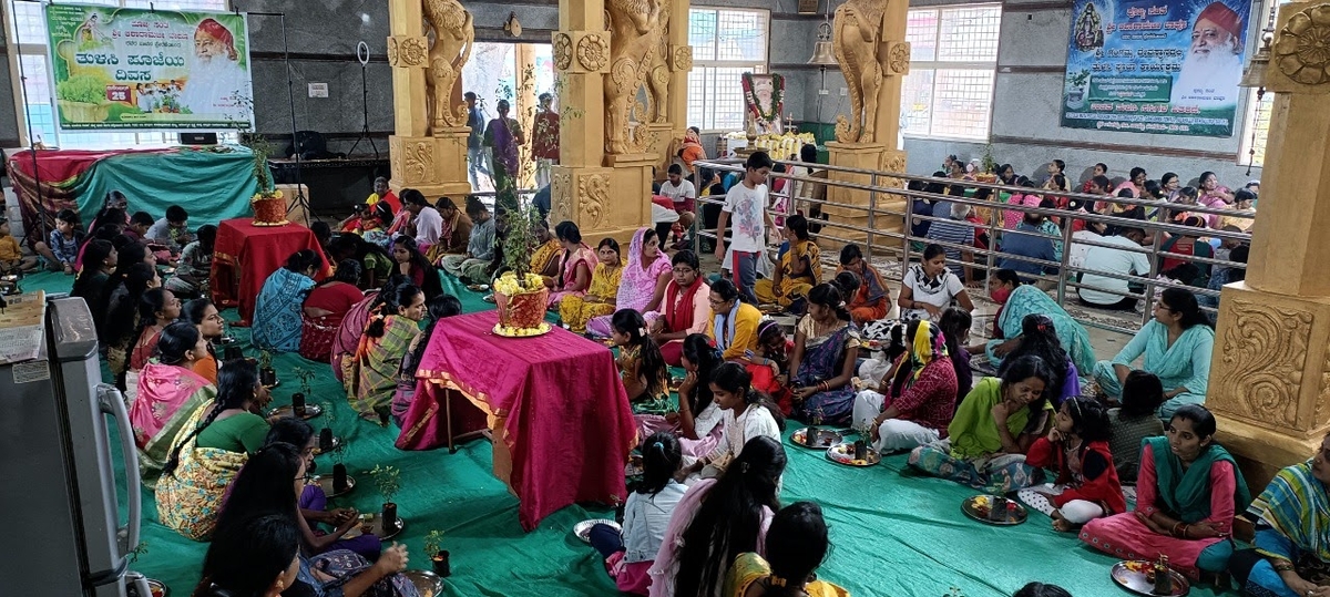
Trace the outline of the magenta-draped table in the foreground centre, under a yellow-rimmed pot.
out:
<instances>
[{"instance_id":1,"label":"magenta-draped table in the foreground centre, under a yellow-rimmed pot","mask_svg":"<svg viewBox=\"0 0 1330 597\"><path fill-rule=\"evenodd\" d=\"M625 500L624 464L637 429L613 354L559 327L499 336L491 331L497 322L497 311L484 311L435 326L412 410L455 390L488 415L495 476L520 500L527 531L577 501Z\"/></svg>"}]
</instances>

